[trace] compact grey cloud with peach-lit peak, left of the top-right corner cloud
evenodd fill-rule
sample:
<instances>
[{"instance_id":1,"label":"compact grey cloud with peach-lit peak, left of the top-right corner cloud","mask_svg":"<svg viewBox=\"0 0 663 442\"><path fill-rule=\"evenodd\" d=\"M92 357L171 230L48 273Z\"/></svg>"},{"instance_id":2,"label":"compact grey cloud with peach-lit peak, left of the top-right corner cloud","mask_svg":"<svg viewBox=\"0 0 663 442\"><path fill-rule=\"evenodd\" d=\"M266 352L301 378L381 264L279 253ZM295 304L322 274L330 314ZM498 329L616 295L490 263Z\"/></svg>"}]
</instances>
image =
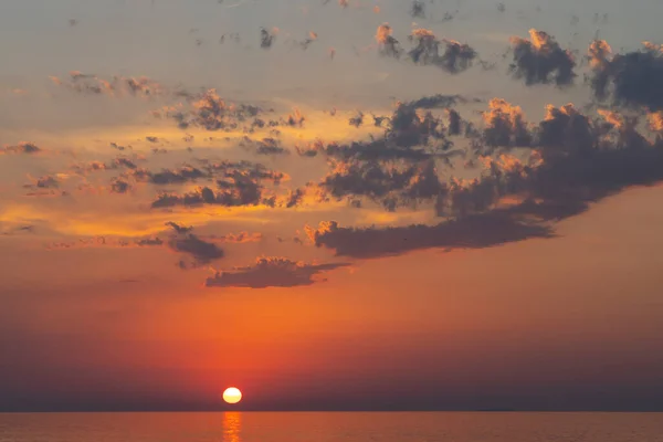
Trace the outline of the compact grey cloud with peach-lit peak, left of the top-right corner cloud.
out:
<instances>
[{"instance_id":1,"label":"compact grey cloud with peach-lit peak, left of the top-right corner cloud","mask_svg":"<svg viewBox=\"0 0 663 442\"><path fill-rule=\"evenodd\" d=\"M511 40L513 62L509 71L514 77L525 80L528 86L550 83L567 86L573 83L573 55L544 31L530 29L529 38L513 36Z\"/></svg>"}]
</instances>

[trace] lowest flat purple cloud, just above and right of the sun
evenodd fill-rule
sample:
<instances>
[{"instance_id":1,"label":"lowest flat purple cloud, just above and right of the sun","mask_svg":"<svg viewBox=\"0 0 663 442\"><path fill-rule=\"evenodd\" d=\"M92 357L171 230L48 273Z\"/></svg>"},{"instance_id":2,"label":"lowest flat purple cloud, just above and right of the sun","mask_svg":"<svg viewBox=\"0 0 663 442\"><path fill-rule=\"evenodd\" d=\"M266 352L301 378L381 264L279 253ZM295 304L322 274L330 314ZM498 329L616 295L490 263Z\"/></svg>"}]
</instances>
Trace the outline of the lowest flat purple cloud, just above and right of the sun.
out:
<instances>
[{"instance_id":1,"label":"lowest flat purple cloud, just above and right of the sun","mask_svg":"<svg viewBox=\"0 0 663 442\"><path fill-rule=\"evenodd\" d=\"M217 272L213 277L207 278L206 286L246 288L308 286L326 281L316 277L317 275L348 265L348 263L305 264L285 257L260 257L251 266Z\"/></svg>"}]
</instances>

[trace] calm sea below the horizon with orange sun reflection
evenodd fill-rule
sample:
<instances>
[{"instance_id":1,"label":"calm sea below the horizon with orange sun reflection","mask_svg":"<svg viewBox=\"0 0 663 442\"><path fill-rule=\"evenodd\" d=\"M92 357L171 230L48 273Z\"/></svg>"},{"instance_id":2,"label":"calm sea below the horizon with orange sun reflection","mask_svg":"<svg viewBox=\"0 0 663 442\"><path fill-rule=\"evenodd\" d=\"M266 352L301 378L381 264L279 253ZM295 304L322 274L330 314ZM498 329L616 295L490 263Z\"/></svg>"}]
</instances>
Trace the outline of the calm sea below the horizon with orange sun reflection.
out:
<instances>
[{"instance_id":1,"label":"calm sea below the horizon with orange sun reflection","mask_svg":"<svg viewBox=\"0 0 663 442\"><path fill-rule=\"evenodd\" d=\"M0 442L657 442L655 413L0 414Z\"/></svg>"}]
</instances>

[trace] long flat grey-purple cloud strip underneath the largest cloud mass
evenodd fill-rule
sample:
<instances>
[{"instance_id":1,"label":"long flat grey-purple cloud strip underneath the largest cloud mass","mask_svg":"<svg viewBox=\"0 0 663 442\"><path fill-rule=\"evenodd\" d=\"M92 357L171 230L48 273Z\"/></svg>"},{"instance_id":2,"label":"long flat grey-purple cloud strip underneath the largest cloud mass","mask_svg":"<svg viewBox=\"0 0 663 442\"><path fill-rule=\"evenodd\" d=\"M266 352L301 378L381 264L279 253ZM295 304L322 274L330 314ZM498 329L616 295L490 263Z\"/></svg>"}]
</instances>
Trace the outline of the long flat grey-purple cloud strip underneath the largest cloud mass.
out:
<instances>
[{"instance_id":1,"label":"long flat grey-purple cloud strip underneath the largest cloud mass","mask_svg":"<svg viewBox=\"0 0 663 442\"><path fill-rule=\"evenodd\" d=\"M425 249L484 249L552 236L548 227L522 222L502 212L471 215L438 225L386 229L340 228L330 221L320 223L317 229L307 227L306 231L316 246L334 250L337 256L357 259L399 255Z\"/></svg>"}]
</instances>

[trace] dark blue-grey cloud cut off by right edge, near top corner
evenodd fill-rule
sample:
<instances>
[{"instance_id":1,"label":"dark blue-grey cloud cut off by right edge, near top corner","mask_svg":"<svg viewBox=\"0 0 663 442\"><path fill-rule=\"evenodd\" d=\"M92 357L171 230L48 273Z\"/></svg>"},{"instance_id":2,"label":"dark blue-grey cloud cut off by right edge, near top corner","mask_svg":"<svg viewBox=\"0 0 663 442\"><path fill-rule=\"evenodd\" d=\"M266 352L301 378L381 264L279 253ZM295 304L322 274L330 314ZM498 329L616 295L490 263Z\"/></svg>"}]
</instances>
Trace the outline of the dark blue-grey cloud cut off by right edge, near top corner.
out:
<instances>
[{"instance_id":1,"label":"dark blue-grey cloud cut off by right edge, near top corner","mask_svg":"<svg viewBox=\"0 0 663 442\"><path fill-rule=\"evenodd\" d=\"M615 106L663 109L663 49L644 43L640 51L612 55L610 45L594 41L589 49L594 96Z\"/></svg>"}]
</instances>

